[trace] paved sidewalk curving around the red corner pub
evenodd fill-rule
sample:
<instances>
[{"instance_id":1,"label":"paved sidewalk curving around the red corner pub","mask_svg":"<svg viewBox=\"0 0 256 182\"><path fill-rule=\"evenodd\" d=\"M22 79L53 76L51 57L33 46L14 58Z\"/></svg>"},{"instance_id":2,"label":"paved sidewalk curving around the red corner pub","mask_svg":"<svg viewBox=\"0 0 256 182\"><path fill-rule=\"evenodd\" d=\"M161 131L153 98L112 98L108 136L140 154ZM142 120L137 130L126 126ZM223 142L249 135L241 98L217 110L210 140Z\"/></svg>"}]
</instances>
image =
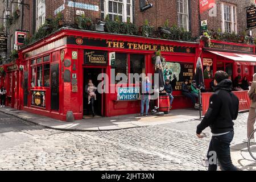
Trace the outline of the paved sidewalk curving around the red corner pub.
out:
<instances>
[{"instance_id":1,"label":"paved sidewalk curving around the red corner pub","mask_svg":"<svg viewBox=\"0 0 256 182\"><path fill-rule=\"evenodd\" d=\"M10 107L0 107L0 111L13 115L19 119L34 123L49 129L64 131L109 131L129 129L133 127L161 125L172 122L184 122L199 118L199 111L193 109L171 110L170 114L164 116L149 115L141 117L138 114L120 115L116 117L101 117L65 122L42 115L28 113L23 110L16 110Z\"/></svg>"}]
</instances>

